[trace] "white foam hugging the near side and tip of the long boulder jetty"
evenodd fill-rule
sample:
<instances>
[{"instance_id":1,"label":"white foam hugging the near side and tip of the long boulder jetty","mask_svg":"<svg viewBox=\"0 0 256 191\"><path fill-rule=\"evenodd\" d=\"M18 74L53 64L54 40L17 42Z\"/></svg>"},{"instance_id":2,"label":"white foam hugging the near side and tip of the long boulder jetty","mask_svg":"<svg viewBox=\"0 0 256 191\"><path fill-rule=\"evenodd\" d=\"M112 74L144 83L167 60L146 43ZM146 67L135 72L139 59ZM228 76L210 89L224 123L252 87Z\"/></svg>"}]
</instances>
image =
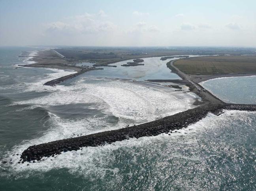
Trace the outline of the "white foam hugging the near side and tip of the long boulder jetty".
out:
<instances>
[{"instance_id":1,"label":"white foam hugging the near side and tip of the long boulder jetty","mask_svg":"<svg viewBox=\"0 0 256 191\"><path fill-rule=\"evenodd\" d=\"M15 173L16 176L30 176L31 173L36 171L50 171L52 169L62 169L67 168L69 172L72 174L80 174L86 177L91 177L93 174L96 178L101 178L105 176L105 174L109 171L113 172L113 174L117 175L119 172L118 168L110 168L108 167L109 163L111 163L115 159L114 152L119 149L124 149L131 156L133 156L132 161L130 163L134 163L138 165L137 155L140 155L141 149L153 149L155 146L155 150L158 150L157 145L161 145L161 143L166 143L167 147L171 148L173 144L198 144L195 139L195 134L201 134L202 132L207 132L210 129L214 129L218 131L218 128L223 128L220 124L230 124L234 119L244 120L248 125L252 123L252 119L248 117L249 112L247 111L225 111L224 114L220 116L215 116L211 113L207 115L204 119L197 122L196 124L192 124L188 126L188 128L178 130L181 133L172 133L171 135L161 134L154 137L140 137L139 139L132 138L124 141L117 141L112 143L111 145L98 146L98 147L85 147L83 150L71 151L62 153L61 155L56 156L55 158L43 158L40 162L37 163L24 163L17 164L19 161L19 156L16 156L16 153L23 152L30 145L40 144L48 141L53 141L54 139L59 139L65 137L64 134L70 134L72 129L62 129L57 130L55 128L51 128L45 135L40 137L39 139L32 139L30 141L26 141L25 143L16 146L11 152L8 153L6 157L9 161L12 158L13 164L10 167L13 169L12 173ZM50 113L52 116L50 120L60 120L57 116ZM77 127L77 131L83 130L83 128ZM153 147L152 147L153 145ZM155 146L154 146L155 145ZM141 149L136 149L141 148ZM136 151L137 150L137 151ZM158 150L159 155L165 155L165 151ZM199 156L186 156L179 152L174 152L169 157L171 158L181 158L184 160L190 161L200 161ZM168 157L168 158L169 158ZM26 171L26 173L23 173ZM10 174L6 174L10 175Z\"/></svg>"}]
</instances>

